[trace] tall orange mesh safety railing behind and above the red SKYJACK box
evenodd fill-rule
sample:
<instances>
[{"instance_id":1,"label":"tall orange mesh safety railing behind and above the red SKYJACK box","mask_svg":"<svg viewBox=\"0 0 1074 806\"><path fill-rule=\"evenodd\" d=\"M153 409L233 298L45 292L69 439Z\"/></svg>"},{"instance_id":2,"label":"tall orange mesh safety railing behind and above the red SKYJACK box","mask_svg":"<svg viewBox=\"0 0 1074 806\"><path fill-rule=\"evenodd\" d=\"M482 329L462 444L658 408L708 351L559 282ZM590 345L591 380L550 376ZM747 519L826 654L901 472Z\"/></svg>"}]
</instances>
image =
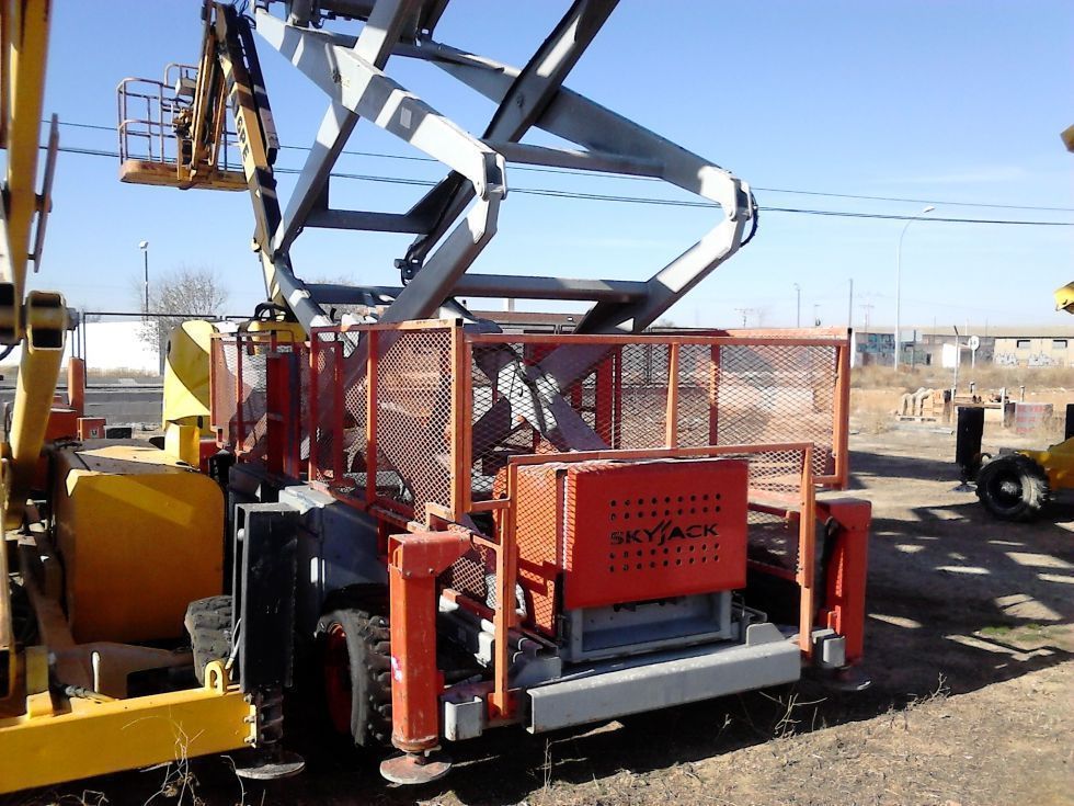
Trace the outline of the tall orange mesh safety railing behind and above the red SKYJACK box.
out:
<instances>
[{"instance_id":1,"label":"tall orange mesh safety railing behind and above the red SKYJACK box","mask_svg":"<svg viewBox=\"0 0 1074 806\"><path fill-rule=\"evenodd\" d=\"M843 488L847 340L769 332L318 329L309 478L403 522L424 522L429 504L458 520L493 498L499 472L521 454L809 442L814 484ZM769 492L789 458L769 458Z\"/></svg>"}]
</instances>

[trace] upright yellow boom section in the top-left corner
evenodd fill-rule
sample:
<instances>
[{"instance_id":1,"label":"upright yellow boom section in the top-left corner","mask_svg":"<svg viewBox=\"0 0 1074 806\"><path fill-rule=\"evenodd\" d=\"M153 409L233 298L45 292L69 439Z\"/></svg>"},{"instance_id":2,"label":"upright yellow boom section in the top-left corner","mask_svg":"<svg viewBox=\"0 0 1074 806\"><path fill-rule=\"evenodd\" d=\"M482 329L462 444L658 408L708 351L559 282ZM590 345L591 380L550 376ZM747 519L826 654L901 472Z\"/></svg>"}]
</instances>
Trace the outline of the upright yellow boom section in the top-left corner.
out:
<instances>
[{"instance_id":1,"label":"upright yellow boom section in the top-left corner","mask_svg":"<svg viewBox=\"0 0 1074 806\"><path fill-rule=\"evenodd\" d=\"M0 0L3 18L5 239L0 248L0 337L19 342L30 232L37 213L37 138L45 90L50 0Z\"/></svg>"}]
</instances>

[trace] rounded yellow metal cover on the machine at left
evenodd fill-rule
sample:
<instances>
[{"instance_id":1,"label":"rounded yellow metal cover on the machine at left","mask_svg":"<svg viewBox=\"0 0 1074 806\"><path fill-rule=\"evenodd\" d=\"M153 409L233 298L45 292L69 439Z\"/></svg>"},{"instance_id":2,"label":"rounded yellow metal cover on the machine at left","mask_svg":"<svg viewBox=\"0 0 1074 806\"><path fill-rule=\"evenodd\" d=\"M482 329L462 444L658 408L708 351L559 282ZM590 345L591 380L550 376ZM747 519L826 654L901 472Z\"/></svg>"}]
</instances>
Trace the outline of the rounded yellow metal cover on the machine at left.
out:
<instances>
[{"instance_id":1,"label":"rounded yellow metal cover on the machine at left","mask_svg":"<svg viewBox=\"0 0 1074 806\"><path fill-rule=\"evenodd\" d=\"M52 470L76 640L182 635L186 605L221 590L219 486L145 443L66 449Z\"/></svg>"}]
</instances>

